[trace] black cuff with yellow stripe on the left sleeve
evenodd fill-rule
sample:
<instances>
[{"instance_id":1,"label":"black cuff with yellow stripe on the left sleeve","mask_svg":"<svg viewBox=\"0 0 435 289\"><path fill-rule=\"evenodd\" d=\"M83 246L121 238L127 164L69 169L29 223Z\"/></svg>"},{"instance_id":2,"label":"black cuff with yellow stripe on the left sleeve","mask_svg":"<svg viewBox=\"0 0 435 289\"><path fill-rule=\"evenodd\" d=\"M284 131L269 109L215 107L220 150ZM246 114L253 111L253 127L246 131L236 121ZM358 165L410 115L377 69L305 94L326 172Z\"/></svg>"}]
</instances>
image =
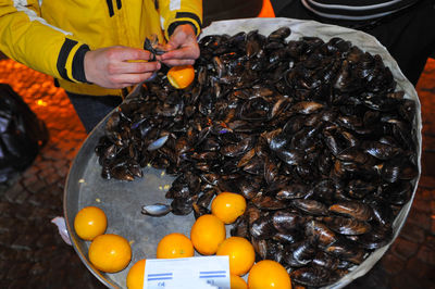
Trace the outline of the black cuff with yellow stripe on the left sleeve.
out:
<instances>
[{"instance_id":1,"label":"black cuff with yellow stripe on the left sleeve","mask_svg":"<svg viewBox=\"0 0 435 289\"><path fill-rule=\"evenodd\" d=\"M63 79L73 83L88 83L85 75L85 54L89 47L65 38L59 52L57 68Z\"/></svg>"}]
</instances>

